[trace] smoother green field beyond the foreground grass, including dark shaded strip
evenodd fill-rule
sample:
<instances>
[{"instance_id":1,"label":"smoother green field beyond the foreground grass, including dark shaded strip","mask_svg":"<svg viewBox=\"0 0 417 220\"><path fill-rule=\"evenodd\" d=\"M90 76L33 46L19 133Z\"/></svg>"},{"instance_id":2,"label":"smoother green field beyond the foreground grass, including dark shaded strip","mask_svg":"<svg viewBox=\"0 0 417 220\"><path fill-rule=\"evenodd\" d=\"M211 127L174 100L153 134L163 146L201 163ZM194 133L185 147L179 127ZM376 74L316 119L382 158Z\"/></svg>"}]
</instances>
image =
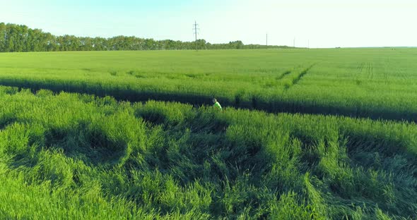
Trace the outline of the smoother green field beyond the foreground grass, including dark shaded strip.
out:
<instances>
[{"instance_id":1,"label":"smoother green field beyond the foreground grass, including dark shaded strip","mask_svg":"<svg viewBox=\"0 0 417 220\"><path fill-rule=\"evenodd\" d=\"M417 49L0 54L2 85L415 121Z\"/></svg>"}]
</instances>

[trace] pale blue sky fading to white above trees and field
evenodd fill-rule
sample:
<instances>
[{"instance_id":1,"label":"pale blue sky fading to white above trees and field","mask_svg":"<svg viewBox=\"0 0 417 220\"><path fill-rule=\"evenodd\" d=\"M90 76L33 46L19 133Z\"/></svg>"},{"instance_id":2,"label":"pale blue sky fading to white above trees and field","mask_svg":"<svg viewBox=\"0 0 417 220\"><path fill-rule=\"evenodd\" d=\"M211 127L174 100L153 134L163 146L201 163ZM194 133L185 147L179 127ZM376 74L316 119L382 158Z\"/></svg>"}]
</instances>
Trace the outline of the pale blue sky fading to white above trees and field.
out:
<instances>
[{"instance_id":1,"label":"pale blue sky fading to white above trees and field","mask_svg":"<svg viewBox=\"0 0 417 220\"><path fill-rule=\"evenodd\" d=\"M54 35L307 47L417 47L416 0L0 0L0 22Z\"/></svg>"}]
</instances>

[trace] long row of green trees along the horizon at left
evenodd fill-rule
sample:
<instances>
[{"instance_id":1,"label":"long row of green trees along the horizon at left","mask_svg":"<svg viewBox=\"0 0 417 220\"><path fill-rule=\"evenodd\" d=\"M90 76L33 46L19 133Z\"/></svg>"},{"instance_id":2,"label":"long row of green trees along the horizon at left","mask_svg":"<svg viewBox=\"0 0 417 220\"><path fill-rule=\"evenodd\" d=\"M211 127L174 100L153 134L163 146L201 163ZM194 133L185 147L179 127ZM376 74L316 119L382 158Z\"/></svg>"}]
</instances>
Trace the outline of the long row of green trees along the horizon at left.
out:
<instances>
[{"instance_id":1,"label":"long row of green trees along the horizon at left","mask_svg":"<svg viewBox=\"0 0 417 220\"><path fill-rule=\"evenodd\" d=\"M26 51L117 51L117 50L175 50L175 49L264 49L286 48L286 46L265 46L243 44L240 40L228 44L211 44L204 39L196 42L182 42L170 39L155 40L139 37L117 36L76 37L55 36L26 25L0 23L0 52Z\"/></svg>"}]
</instances>

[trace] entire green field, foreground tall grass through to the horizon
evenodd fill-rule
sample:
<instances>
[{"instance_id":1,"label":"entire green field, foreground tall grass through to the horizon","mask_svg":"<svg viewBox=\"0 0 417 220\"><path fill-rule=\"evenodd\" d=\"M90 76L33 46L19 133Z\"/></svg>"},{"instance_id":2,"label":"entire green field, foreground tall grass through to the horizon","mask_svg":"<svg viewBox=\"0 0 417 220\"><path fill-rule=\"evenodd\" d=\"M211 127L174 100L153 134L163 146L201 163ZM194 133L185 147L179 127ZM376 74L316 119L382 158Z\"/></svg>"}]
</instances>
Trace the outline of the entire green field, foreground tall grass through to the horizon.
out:
<instances>
[{"instance_id":1,"label":"entire green field, foreground tall grass through to the horizon","mask_svg":"<svg viewBox=\"0 0 417 220\"><path fill-rule=\"evenodd\" d=\"M417 219L416 70L406 48L0 54L0 218Z\"/></svg>"}]
</instances>

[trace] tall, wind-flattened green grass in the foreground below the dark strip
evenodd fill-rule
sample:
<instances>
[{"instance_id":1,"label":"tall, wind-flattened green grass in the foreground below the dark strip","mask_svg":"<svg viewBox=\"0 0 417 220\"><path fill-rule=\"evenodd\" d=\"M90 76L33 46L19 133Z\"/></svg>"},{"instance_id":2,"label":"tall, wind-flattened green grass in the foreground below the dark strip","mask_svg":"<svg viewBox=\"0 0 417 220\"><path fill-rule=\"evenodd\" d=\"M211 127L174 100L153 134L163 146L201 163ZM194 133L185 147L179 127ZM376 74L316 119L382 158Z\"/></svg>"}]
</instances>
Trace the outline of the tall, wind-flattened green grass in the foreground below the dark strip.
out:
<instances>
[{"instance_id":1,"label":"tall, wind-flattened green grass in the foreground below the dark strip","mask_svg":"<svg viewBox=\"0 0 417 220\"><path fill-rule=\"evenodd\" d=\"M414 123L0 87L5 219L415 219Z\"/></svg>"}]
</instances>

